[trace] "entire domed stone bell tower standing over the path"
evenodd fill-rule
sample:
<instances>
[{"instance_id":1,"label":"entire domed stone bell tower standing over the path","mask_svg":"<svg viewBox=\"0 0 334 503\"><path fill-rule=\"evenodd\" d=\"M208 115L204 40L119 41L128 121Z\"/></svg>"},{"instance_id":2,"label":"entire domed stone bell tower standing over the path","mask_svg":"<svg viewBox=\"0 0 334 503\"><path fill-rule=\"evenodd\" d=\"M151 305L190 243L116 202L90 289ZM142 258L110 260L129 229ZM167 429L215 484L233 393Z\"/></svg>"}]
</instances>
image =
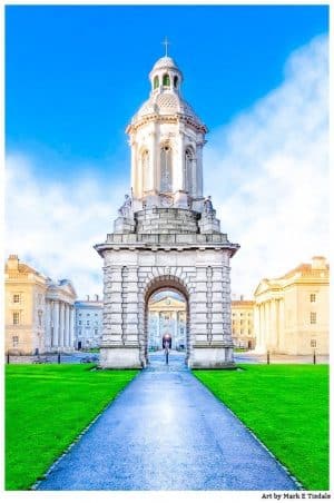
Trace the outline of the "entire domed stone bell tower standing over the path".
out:
<instances>
[{"instance_id":1,"label":"entire domed stone bell tower standing over the path","mask_svg":"<svg viewBox=\"0 0 334 503\"><path fill-rule=\"evenodd\" d=\"M147 365L147 303L168 288L187 300L188 366L233 367L229 259L239 245L222 234L203 196L207 128L181 97L183 73L170 57L155 63L149 80L149 98L127 127L131 196L114 233L95 246L105 262L100 363Z\"/></svg>"}]
</instances>

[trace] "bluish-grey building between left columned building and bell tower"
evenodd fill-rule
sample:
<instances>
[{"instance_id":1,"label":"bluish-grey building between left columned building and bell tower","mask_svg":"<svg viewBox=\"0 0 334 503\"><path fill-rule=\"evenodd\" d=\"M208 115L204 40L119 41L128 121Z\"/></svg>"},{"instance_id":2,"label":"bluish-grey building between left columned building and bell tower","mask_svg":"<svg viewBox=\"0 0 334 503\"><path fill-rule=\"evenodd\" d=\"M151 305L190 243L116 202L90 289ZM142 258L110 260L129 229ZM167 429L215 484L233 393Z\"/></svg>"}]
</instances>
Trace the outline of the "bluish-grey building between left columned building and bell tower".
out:
<instances>
[{"instance_id":1,"label":"bluish-grey building between left columned building and bell tower","mask_svg":"<svg viewBox=\"0 0 334 503\"><path fill-rule=\"evenodd\" d=\"M99 347L102 337L104 303L96 295L94 299L76 302L76 347L88 349Z\"/></svg>"}]
</instances>

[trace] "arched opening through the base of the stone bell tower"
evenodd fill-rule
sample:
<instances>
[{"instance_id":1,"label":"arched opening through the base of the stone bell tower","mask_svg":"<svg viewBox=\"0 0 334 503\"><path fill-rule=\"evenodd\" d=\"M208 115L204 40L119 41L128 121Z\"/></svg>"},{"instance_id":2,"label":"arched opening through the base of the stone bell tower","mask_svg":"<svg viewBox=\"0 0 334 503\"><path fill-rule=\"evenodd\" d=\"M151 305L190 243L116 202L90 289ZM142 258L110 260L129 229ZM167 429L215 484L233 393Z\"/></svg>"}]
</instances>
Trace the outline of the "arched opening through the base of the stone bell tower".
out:
<instances>
[{"instance_id":1,"label":"arched opening through the base of the stone bell tower","mask_svg":"<svg viewBox=\"0 0 334 503\"><path fill-rule=\"evenodd\" d=\"M188 362L189 299L186 288L176 280L154 282L145 297L145 361L164 352L164 337L169 336L173 355Z\"/></svg>"}]
</instances>

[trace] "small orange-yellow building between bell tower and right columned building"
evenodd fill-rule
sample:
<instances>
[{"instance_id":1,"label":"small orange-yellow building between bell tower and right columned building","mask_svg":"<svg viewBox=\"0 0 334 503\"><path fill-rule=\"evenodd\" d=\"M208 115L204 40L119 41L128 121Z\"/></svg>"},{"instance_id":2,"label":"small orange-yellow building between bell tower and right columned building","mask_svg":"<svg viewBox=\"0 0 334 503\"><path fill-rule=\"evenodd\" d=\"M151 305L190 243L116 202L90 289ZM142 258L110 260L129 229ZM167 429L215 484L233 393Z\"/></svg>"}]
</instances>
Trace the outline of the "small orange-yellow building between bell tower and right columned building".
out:
<instances>
[{"instance_id":1,"label":"small orange-yellow building between bell tower and right columned building","mask_svg":"<svg viewBox=\"0 0 334 503\"><path fill-rule=\"evenodd\" d=\"M235 347L255 348L254 337L254 300L232 300L232 339Z\"/></svg>"}]
</instances>

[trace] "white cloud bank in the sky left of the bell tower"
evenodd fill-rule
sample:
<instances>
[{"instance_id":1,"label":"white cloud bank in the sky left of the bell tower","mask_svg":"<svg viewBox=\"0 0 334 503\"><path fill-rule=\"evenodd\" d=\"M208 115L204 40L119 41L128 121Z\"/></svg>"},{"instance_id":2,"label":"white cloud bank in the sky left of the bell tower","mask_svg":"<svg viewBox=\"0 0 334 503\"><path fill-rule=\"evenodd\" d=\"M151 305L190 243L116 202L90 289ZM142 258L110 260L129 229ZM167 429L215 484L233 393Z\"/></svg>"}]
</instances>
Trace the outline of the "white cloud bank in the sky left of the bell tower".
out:
<instances>
[{"instance_id":1,"label":"white cloud bank in the sky left of the bell tower","mask_svg":"<svg viewBox=\"0 0 334 503\"><path fill-rule=\"evenodd\" d=\"M92 246L112 231L127 180L91 177L46 181L31 158L7 158L6 255L18 254L52 279L69 278L80 297L102 294L102 258Z\"/></svg>"}]
</instances>

